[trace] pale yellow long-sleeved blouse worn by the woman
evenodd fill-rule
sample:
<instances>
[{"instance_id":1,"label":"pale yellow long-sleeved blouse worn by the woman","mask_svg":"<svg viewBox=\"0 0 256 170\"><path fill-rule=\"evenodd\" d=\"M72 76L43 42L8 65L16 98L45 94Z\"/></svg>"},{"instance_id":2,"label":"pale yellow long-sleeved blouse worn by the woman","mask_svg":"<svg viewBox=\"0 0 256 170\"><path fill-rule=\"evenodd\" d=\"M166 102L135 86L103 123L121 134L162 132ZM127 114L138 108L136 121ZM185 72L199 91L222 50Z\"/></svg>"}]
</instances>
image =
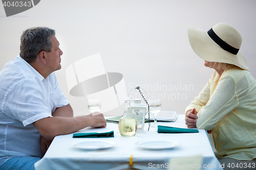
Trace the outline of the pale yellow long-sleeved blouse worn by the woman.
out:
<instances>
[{"instance_id":1,"label":"pale yellow long-sleeved blouse worn by the woman","mask_svg":"<svg viewBox=\"0 0 256 170\"><path fill-rule=\"evenodd\" d=\"M186 108L196 108L198 129L212 130L220 158L256 158L256 80L250 72L227 67L216 71Z\"/></svg>"}]
</instances>

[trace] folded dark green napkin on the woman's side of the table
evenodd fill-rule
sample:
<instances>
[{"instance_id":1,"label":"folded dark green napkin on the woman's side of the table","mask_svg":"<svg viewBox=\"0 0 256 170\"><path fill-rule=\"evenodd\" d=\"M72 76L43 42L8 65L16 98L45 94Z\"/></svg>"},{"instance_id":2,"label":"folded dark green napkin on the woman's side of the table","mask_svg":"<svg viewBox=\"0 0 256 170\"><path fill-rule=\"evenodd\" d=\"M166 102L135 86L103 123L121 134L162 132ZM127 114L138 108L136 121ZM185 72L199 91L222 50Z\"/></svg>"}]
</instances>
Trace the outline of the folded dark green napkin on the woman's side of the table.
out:
<instances>
[{"instance_id":1,"label":"folded dark green napkin on the woman's side of the table","mask_svg":"<svg viewBox=\"0 0 256 170\"><path fill-rule=\"evenodd\" d=\"M198 129L185 129L185 128L174 128L168 126L157 126L158 133L198 133Z\"/></svg>"}]
</instances>

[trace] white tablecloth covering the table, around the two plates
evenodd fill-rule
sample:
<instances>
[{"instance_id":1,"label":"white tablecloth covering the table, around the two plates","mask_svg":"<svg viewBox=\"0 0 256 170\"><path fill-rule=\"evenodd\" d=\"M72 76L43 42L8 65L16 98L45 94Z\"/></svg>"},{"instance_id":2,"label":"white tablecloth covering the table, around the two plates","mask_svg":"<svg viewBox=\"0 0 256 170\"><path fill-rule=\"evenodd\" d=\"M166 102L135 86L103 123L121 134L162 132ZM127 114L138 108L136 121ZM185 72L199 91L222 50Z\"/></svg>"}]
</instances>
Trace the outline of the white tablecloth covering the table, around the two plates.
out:
<instances>
[{"instance_id":1,"label":"white tablecloth covering the table, around the two plates","mask_svg":"<svg viewBox=\"0 0 256 170\"><path fill-rule=\"evenodd\" d=\"M153 123L152 123L153 124ZM179 115L176 122L158 122L158 125L186 128L184 115ZM145 129L147 128L145 125ZM133 155L133 167L139 169L168 168L169 159L193 157L201 155L201 167L206 169L222 169L215 157L208 135L205 130L199 133L166 134L157 133L157 128L150 128L146 133L136 133L133 137L122 137L118 124L108 123L106 128L85 128L80 132L109 132L114 130L112 138L72 138L73 134L56 136L46 155L35 163L36 170L65 169L125 169L130 167L130 156ZM70 143L78 140L110 140L115 147L97 151L81 151L73 148ZM173 150L143 150L135 142L147 139L178 140L182 144ZM184 164L183 164L184 165ZM180 169L182 166L180 165Z\"/></svg>"}]
</instances>

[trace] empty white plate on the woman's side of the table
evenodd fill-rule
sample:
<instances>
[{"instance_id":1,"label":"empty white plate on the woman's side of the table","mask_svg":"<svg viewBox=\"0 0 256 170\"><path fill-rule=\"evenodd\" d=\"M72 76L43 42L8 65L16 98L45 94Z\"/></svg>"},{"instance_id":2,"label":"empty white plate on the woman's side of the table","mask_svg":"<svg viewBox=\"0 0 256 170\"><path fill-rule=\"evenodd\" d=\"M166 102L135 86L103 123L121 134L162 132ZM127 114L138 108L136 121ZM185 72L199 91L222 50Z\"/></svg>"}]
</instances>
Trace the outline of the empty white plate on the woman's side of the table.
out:
<instances>
[{"instance_id":1,"label":"empty white plate on the woman's side of the table","mask_svg":"<svg viewBox=\"0 0 256 170\"><path fill-rule=\"evenodd\" d=\"M142 140L135 144L147 150L171 150L181 145L181 142L175 140Z\"/></svg>"}]
</instances>

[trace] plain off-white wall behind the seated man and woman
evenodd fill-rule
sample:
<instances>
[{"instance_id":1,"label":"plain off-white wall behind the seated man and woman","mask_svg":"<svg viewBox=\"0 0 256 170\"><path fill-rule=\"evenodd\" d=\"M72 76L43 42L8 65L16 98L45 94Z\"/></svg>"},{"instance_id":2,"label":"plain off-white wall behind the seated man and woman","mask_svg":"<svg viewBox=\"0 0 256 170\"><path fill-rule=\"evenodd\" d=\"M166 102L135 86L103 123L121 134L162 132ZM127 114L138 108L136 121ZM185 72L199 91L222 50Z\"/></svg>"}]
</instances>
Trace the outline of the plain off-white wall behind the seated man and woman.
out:
<instances>
[{"instance_id":1,"label":"plain off-white wall behind the seated man and woman","mask_svg":"<svg viewBox=\"0 0 256 170\"><path fill-rule=\"evenodd\" d=\"M89 114L87 99L69 94L66 68L97 53L106 72L124 76L127 92L139 85L148 99L161 99L162 110L183 114L213 72L190 47L186 26L208 31L226 22L236 28L243 37L241 52L256 78L255 9L254 0L41 0L6 17L1 4L0 68L19 53L24 30L50 27L63 51L56 75L75 115ZM123 105L104 114L122 113Z\"/></svg>"}]
</instances>

